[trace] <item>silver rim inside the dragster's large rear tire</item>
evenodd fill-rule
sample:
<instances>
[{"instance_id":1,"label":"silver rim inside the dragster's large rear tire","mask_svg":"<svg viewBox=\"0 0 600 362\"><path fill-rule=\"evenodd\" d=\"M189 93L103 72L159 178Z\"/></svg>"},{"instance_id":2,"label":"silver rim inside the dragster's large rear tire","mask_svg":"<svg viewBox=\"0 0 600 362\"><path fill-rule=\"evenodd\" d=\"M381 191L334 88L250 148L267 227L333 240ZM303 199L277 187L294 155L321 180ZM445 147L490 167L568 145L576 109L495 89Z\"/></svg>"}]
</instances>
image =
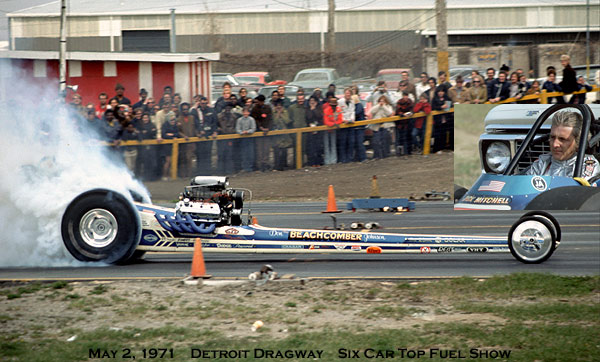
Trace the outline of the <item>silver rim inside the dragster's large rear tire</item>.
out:
<instances>
[{"instance_id":1,"label":"silver rim inside the dragster's large rear tire","mask_svg":"<svg viewBox=\"0 0 600 362\"><path fill-rule=\"evenodd\" d=\"M94 248L104 248L117 237L117 219L105 209L86 212L79 222L81 239Z\"/></svg>"}]
</instances>

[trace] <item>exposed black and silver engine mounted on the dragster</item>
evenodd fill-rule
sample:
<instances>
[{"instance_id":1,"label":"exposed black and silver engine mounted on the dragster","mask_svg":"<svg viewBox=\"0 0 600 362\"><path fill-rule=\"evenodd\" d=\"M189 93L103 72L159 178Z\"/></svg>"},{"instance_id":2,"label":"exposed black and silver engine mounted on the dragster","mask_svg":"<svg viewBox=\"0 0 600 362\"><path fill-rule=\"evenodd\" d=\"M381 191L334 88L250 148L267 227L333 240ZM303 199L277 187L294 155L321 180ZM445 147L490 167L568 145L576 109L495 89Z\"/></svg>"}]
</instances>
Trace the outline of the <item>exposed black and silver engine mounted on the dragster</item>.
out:
<instances>
[{"instance_id":1,"label":"exposed black and silver engine mounted on the dragster","mask_svg":"<svg viewBox=\"0 0 600 362\"><path fill-rule=\"evenodd\" d=\"M241 225L244 191L229 187L227 177L196 176L179 195L175 212L197 223Z\"/></svg>"}]
</instances>

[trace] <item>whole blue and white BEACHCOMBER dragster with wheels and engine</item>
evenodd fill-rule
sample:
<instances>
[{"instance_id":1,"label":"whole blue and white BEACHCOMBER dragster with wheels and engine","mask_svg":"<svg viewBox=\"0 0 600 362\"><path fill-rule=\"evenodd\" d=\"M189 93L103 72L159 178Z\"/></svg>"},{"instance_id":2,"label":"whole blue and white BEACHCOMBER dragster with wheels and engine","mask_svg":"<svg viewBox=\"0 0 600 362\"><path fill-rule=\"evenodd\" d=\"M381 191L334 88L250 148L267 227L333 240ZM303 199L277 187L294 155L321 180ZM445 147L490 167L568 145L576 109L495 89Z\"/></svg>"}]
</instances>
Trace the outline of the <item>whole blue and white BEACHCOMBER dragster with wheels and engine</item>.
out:
<instances>
[{"instance_id":1,"label":"whole blue and white BEACHCOMBER dragster with wheels and engine","mask_svg":"<svg viewBox=\"0 0 600 362\"><path fill-rule=\"evenodd\" d=\"M232 189L227 177L198 176L175 208L138 201L108 189L77 196L62 217L68 251L81 261L125 263L147 251L233 253L495 253L511 252L523 263L541 263L558 247L560 226L534 211L517 220L508 238L394 234L265 227L243 222L248 190Z\"/></svg>"}]
</instances>

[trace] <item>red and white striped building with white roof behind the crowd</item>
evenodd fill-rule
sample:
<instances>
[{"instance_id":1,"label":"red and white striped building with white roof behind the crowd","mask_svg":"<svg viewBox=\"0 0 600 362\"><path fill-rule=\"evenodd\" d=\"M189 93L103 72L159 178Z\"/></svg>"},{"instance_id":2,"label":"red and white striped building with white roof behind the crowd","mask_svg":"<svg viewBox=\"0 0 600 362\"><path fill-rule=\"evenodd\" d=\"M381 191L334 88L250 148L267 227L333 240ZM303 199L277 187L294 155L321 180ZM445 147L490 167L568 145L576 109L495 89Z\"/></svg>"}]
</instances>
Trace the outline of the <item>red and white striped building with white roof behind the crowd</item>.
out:
<instances>
[{"instance_id":1,"label":"red and white striped building with white roof behind the crowd","mask_svg":"<svg viewBox=\"0 0 600 362\"><path fill-rule=\"evenodd\" d=\"M21 77L33 84L56 85L58 94L59 62L55 51L6 51L12 69L22 70ZM189 102L195 94L210 99L211 61L219 53L115 53L67 52L67 85L77 86L83 104L96 103L98 94L115 95L117 83L125 87L125 96L135 103L139 90L160 99L163 88L173 87ZM70 99L72 92L67 92Z\"/></svg>"}]
</instances>

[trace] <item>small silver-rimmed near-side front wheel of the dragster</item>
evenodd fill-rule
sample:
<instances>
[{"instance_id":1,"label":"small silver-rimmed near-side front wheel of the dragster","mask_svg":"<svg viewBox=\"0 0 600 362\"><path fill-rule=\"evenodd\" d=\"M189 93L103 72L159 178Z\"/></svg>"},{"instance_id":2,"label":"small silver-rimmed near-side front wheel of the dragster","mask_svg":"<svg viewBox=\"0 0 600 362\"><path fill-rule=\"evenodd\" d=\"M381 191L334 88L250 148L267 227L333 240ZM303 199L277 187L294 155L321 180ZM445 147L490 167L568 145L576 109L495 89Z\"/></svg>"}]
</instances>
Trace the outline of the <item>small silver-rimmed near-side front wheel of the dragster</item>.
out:
<instances>
[{"instance_id":1,"label":"small silver-rimmed near-side front wheel of the dragster","mask_svg":"<svg viewBox=\"0 0 600 362\"><path fill-rule=\"evenodd\" d=\"M526 264L539 264L556 249L554 225L539 216L519 219L508 233L508 248L515 259Z\"/></svg>"}]
</instances>

